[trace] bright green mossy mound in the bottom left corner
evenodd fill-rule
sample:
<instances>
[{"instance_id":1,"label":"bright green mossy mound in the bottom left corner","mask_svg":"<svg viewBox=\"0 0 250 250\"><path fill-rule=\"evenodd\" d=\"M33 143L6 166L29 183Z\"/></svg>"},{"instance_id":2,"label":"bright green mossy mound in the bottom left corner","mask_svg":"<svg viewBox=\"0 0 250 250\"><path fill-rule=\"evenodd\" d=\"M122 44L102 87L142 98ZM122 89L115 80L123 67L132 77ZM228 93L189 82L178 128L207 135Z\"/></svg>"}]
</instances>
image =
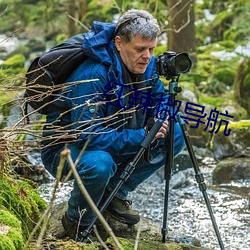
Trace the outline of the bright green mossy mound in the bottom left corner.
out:
<instances>
[{"instance_id":1,"label":"bright green mossy mound in the bottom left corner","mask_svg":"<svg viewBox=\"0 0 250 250\"><path fill-rule=\"evenodd\" d=\"M0 249L19 250L23 244L21 222L9 211L0 209Z\"/></svg>"}]
</instances>

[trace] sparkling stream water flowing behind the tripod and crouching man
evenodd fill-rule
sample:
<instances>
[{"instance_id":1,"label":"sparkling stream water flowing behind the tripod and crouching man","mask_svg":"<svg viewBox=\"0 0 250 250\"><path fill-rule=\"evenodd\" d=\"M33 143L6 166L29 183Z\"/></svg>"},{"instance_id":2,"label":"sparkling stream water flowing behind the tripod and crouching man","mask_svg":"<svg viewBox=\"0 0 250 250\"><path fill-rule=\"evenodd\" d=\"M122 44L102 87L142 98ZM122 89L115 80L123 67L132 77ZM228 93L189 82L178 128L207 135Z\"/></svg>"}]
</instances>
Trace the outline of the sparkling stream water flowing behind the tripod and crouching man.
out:
<instances>
[{"instance_id":1,"label":"sparkling stream water flowing behind the tripod and crouching man","mask_svg":"<svg viewBox=\"0 0 250 250\"><path fill-rule=\"evenodd\" d=\"M226 250L250 250L250 180L212 185L212 158L202 160L200 170L205 178L209 202ZM162 171L155 173L130 194L132 208L142 217L162 228L165 180ZM42 197L49 201L54 182L39 187ZM55 203L69 198L72 182L64 184ZM173 174L170 180L168 229L177 237L192 237L203 247L220 250L213 224L202 192L197 186L194 169L187 168Z\"/></svg>"}]
</instances>

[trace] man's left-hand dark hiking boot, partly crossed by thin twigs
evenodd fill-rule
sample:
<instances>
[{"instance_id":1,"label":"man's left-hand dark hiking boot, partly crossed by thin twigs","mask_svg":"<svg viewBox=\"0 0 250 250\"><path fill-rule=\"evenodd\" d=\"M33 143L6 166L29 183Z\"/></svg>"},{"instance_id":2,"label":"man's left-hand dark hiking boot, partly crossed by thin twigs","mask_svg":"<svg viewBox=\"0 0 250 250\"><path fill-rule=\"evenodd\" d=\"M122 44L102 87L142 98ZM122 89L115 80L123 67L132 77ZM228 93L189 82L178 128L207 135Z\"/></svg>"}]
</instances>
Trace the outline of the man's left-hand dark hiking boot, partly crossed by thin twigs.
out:
<instances>
[{"instance_id":1,"label":"man's left-hand dark hiking boot, partly crossed by thin twigs","mask_svg":"<svg viewBox=\"0 0 250 250\"><path fill-rule=\"evenodd\" d=\"M97 238L90 234L86 239L83 237L83 232L86 227L78 225L75 221L68 217L67 213L62 217L62 225L66 232L65 236L68 236L70 239L79 242L91 243L97 241Z\"/></svg>"}]
</instances>

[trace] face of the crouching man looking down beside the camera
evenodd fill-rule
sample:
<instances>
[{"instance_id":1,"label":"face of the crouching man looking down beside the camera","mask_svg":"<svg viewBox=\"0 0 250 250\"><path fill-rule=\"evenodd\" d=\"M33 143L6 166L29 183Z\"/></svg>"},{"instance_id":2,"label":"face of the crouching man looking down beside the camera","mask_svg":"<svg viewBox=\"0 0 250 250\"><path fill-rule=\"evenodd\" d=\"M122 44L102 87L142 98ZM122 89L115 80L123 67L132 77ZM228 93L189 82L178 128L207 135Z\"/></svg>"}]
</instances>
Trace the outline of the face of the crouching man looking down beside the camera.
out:
<instances>
[{"instance_id":1,"label":"face of the crouching man looking down beside the camera","mask_svg":"<svg viewBox=\"0 0 250 250\"><path fill-rule=\"evenodd\" d=\"M146 40L140 35L136 35L128 43L124 43L119 36L115 37L115 46L122 61L134 74L143 74L146 71L156 44L157 39Z\"/></svg>"}]
</instances>

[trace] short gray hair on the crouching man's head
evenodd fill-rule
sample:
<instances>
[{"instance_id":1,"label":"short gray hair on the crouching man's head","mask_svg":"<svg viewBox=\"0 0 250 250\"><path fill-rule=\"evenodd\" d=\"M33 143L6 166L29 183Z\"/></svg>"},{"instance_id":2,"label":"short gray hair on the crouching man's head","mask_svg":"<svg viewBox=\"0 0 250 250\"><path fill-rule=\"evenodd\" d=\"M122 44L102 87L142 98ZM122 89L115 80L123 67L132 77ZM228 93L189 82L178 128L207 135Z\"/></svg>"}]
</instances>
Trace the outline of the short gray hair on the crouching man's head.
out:
<instances>
[{"instance_id":1,"label":"short gray hair on the crouching man's head","mask_svg":"<svg viewBox=\"0 0 250 250\"><path fill-rule=\"evenodd\" d=\"M153 40L160 34L157 20L145 10L128 10L118 20L116 36L128 43L135 35Z\"/></svg>"}]
</instances>

